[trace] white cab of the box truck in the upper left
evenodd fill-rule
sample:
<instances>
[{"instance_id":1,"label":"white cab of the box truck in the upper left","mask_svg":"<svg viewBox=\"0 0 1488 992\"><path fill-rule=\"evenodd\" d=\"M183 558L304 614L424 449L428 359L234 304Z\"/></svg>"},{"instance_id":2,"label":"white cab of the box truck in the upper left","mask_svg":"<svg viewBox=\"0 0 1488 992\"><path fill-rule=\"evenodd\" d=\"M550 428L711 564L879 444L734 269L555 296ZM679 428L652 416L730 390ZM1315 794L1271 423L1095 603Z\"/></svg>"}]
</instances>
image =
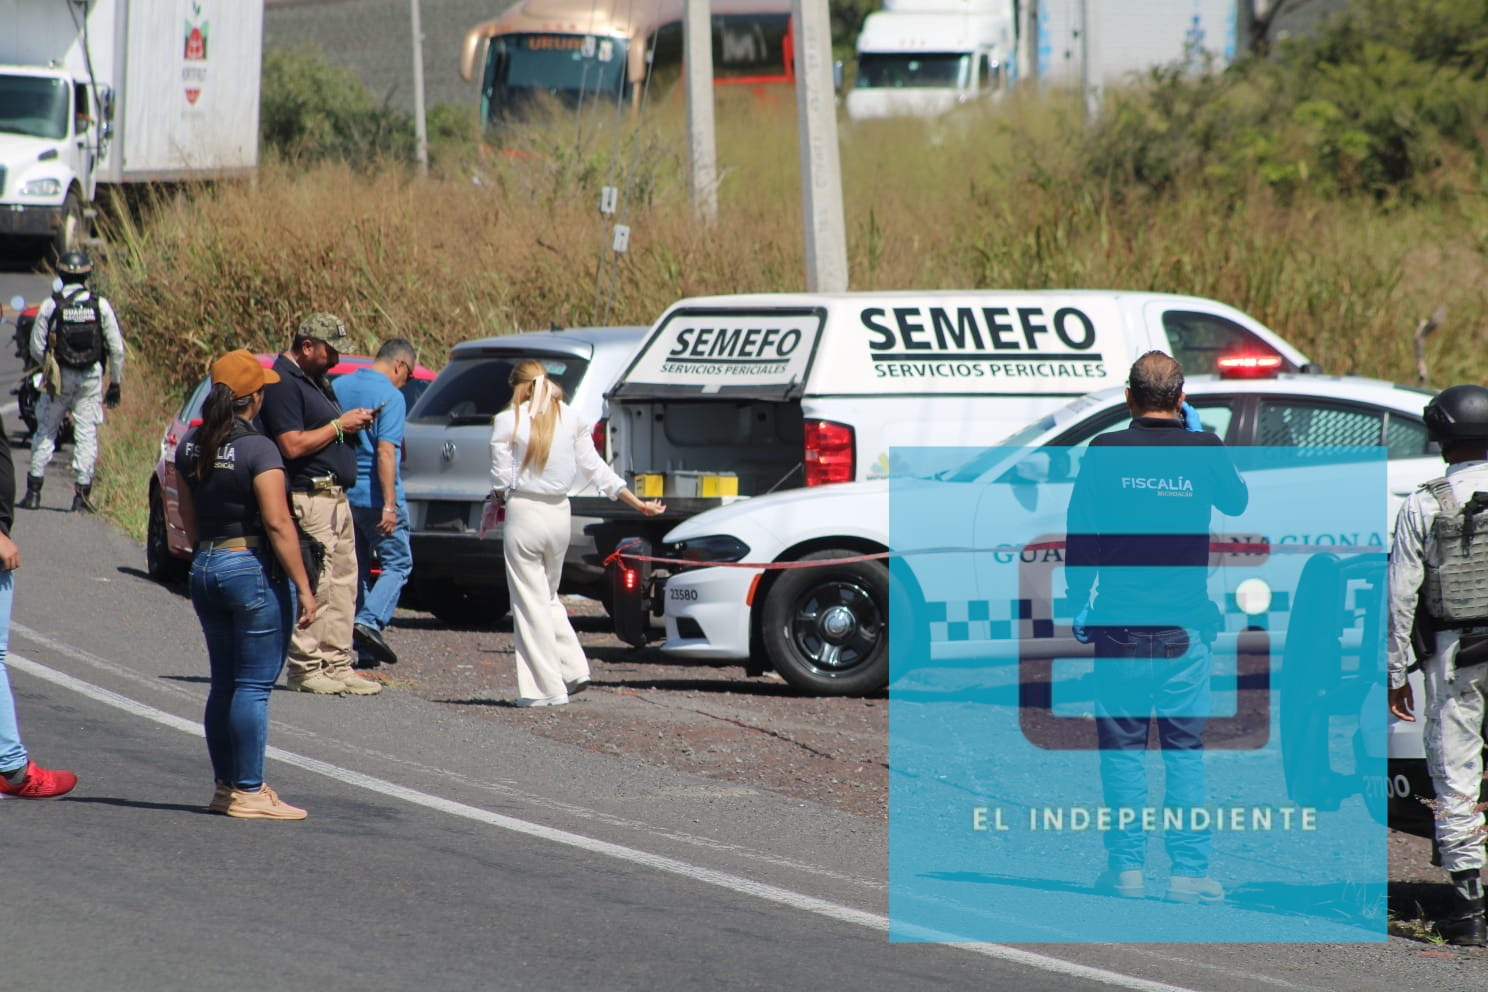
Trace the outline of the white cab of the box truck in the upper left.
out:
<instances>
[{"instance_id":1,"label":"white cab of the box truck in the upper left","mask_svg":"<svg viewBox=\"0 0 1488 992\"><path fill-rule=\"evenodd\" d=\"M46 239L57 254L80 247L112 109L107 86L0 65L0 236Z\"/></svg>"}]
</instances>

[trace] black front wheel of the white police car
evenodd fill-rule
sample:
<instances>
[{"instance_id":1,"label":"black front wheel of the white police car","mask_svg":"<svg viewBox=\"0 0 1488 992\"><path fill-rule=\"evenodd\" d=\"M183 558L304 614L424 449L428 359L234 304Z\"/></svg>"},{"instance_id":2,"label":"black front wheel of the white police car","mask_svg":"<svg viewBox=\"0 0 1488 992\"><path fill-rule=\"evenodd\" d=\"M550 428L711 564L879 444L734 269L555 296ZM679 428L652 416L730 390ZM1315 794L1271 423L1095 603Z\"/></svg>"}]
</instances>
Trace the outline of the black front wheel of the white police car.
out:
<instances>
[{"instance_id":1,"label":"black front wheel of the white police car","mask_svg":"<svg viewBox=\"0 0 1488 992\"><path fill-rule=\"evenodd\" d=\"M851 558L833 549L804 561ZM771 586L762 634L780 675L815 696L865 696L888 684L888 568L878 562L793 568Z\"/></svg>"}]
</instances>

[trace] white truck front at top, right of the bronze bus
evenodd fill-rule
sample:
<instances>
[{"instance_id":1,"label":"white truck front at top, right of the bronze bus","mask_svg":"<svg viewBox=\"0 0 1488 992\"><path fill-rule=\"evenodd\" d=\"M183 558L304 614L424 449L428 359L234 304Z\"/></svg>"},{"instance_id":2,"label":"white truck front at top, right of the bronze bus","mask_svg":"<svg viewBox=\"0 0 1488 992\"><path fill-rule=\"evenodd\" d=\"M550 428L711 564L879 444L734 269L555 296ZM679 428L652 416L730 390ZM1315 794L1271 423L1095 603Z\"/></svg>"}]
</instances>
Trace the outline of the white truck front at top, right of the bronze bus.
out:
<instances>
[{"instance_id":1,"label":"white truck front at top, right of the bronze bus","mask_svg":"<svg viewBox=\"0 0 1488 992\"><path fill-rule=\"evenodd\" d=\"M853 120L933 117L994 97L1018 36L1012 0L888 0L857 36Z\"/></svg>"}]
</instances>

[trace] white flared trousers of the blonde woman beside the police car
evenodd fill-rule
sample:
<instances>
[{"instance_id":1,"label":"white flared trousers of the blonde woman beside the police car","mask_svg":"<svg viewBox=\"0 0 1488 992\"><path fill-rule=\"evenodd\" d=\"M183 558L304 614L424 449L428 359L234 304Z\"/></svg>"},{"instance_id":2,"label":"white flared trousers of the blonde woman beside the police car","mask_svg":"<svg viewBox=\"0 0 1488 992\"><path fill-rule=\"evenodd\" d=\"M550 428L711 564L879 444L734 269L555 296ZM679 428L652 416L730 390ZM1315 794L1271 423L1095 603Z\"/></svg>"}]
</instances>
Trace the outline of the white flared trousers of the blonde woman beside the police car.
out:
<instances>
[{"instance_id":1,"label":"white flared trousers of the blonde woman beside the police car","mask_svg":"<svg viewBox=\"0 0 1488 992\"><path fill-rule=\"evenodd\" d=\"M558 599L568 528L567 495L512 494L506 501L501 550L516 632L516 693L528 699L564 696L565 681L589 677L589 659Z\"/></svg>"}]
</instances>

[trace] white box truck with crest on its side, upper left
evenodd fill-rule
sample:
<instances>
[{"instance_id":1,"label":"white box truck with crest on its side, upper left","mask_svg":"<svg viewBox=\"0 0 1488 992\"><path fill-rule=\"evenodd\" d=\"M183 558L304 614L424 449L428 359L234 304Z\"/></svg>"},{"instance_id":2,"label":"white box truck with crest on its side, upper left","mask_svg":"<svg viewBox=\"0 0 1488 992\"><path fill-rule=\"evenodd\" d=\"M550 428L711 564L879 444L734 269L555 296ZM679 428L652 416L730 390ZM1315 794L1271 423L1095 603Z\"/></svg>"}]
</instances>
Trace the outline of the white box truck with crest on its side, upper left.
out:
<instances>
[{"instance_id":1,"label":"white box truck with crest on its side, upper left","mask_svg":"<svg viewBox=\"0 0 1488 992\"><path fill-rule=\"evenodd\" d=\"M263 0L0 0L0 242L60 254L98 187L257 167Z\"/></svg>"}]
</instances>

